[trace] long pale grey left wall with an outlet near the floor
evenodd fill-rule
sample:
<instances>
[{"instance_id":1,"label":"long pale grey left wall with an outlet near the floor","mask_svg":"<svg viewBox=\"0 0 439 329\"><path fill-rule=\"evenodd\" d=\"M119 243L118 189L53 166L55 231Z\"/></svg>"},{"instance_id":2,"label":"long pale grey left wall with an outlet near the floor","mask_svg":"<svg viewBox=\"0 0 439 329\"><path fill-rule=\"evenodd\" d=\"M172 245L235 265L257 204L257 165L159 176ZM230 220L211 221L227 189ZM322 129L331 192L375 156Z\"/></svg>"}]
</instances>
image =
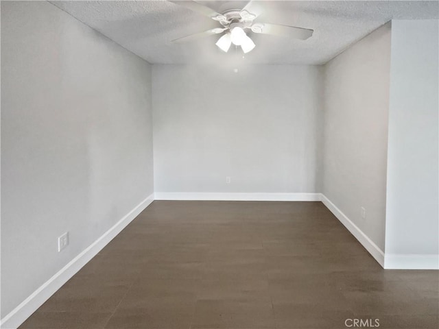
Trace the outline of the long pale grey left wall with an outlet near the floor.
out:
<instances>
[{"instance_id":1,"label":"long pale grey left wall with an outlet near the floor","mask_svg":"<svg viewBox=\"0 0 439 329\"><path fill-rule=\"evenodd\" d=\"M4 317L150 195L153 178L144 60L50 3L1 1L1 80Z\"/></svg>"}]
</instances>

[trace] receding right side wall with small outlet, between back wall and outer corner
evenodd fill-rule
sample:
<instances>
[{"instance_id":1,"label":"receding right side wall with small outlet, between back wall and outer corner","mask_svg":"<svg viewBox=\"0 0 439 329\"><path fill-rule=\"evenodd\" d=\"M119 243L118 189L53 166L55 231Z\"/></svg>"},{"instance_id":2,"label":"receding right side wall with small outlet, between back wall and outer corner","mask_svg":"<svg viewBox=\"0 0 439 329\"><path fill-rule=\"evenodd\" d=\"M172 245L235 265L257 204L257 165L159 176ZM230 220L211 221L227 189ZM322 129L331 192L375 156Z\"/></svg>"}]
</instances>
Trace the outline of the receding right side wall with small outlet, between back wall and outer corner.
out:
<instances>
[{"instance_id":1,"label":"receding right side wall with small outlet, between back wall and outer corner","mask_svg":"<svg viewBox=\"0 0 439 329\"><path fill-rule=\"evenodd\" d=\"M322 192L381 252L390 33L390 24L383 25L324 66Z\"/></svg>"}]
</instances>

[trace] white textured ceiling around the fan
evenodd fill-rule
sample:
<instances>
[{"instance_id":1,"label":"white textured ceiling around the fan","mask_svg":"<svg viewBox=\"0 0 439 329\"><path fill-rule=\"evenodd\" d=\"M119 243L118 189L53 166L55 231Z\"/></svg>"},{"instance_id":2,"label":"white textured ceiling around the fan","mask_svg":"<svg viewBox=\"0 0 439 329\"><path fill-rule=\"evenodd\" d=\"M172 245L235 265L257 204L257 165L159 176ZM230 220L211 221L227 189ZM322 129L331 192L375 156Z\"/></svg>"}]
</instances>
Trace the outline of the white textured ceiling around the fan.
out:
<instances>
[{"instance_id":1,"label":"white textured ceiling around the fan","mask_svg":"<svg viewBox=\"0 0 439 329\"><path fill-rule=\"evenodd\" d=\"M198 1L217 12L248 1ZM169 1L51 1L86 25L150 63L217 63L242 60L241 49L223 53L219 35L182 44L170 41L219 23ZM249 63L324 64L391 19L438 19L438 1L252 1L255 22L313 29L308 40L253 34Z\"/></svg>"}]
</instances>

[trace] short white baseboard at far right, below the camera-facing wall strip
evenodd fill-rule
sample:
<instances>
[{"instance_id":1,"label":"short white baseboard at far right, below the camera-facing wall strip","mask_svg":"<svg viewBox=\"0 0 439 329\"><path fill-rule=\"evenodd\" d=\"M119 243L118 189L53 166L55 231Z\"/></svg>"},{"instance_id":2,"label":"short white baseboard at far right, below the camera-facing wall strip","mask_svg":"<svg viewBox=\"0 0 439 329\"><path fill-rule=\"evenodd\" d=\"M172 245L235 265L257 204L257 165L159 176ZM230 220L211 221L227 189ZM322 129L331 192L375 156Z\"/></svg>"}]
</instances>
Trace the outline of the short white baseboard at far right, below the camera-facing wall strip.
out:
<instances>
[{"instance_id":1,"label":"short white baseboard at far right, below the camera-facing wall strip","mask_svg":"<svg viewBox=\"0 0 439 329\"><path fill-rule=\"evenodd\" d=\"M385 269L439 269L439 255L385 254Z\"/></svg>"}]
</instances>

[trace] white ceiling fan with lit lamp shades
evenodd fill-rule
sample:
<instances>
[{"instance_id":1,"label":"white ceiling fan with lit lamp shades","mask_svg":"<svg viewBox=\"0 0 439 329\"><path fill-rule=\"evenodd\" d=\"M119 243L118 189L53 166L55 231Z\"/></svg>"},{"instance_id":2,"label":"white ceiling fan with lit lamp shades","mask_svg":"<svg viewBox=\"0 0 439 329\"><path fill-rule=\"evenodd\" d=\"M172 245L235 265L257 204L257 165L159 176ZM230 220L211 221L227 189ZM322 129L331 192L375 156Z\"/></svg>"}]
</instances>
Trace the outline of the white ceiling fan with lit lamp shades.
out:
<instances>
[{"instance_id":1,"label":"white ceiling fan with lit lamp shades","mask_svg":"<svg viewBox=\"0 0 439 329\"><path fill-rule=\"evenodd\" d=\"M196 1L171 0L170 2L189 8L193 12L198 12L204 16L208 16L221 25L221 27L215 27L214 29L172 40L172 42L186 42L204 36L226 32L215 44L219 49L227 52L233 43L233 45L241 46L244 53L248 53L254 49L255 45L253 40L246 34L246 29L250 29L253 33L283 35L300 40L306 40L313 34L312 29L305 29L302 27L271 23L254 23L254 20L257 19L257 15L252 14L252 12L248 10L252 0L250 0L242 9L230 9L221 14Z\"/></svg>"}]
</instances>

